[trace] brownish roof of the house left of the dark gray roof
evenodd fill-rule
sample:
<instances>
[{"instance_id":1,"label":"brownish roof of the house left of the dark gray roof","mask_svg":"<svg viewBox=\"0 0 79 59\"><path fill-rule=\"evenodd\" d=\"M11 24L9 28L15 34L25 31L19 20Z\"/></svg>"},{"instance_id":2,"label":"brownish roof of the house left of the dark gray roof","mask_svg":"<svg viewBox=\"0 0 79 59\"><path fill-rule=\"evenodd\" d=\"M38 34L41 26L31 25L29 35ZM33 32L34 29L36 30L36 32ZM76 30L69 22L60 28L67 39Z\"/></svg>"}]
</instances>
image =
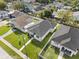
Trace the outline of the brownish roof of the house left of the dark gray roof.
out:
<instances>
[{"instance_id":1,"label":"brownish roof of the house left of the dark gray roof","mask_svg":"<svg viewBox=\"0 0 79 59\"><path fill-rule=\"evenodd\" d=\"M31 23L33 21L33 18L29 15L22 15L17 17L13 22L15 26L19 26L20 28L24 28L27 24Z\"/></svg>"}]
</instances>

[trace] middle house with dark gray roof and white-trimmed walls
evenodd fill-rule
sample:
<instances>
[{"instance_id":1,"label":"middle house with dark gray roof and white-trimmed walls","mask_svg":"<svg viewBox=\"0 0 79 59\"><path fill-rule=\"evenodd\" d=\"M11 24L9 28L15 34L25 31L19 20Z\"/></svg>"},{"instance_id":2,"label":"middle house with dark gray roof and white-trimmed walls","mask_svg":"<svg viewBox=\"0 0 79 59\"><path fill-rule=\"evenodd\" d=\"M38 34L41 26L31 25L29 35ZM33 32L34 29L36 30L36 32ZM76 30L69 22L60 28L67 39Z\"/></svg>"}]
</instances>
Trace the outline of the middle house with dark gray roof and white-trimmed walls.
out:
<instances>
[{"instance_id":1,"label":"middle house with dark gray roof and white-trimmed walls","mask_svg":"<svg viewBox=\"0 0 79 59\"><path fill-rule=\"evenodd\" d=\"M56 24L51 24L48 20L44 20L32 27L28 28L28 31L36 40L42 41L49 32L55 29Z\"/></svg>"}]
</instances>

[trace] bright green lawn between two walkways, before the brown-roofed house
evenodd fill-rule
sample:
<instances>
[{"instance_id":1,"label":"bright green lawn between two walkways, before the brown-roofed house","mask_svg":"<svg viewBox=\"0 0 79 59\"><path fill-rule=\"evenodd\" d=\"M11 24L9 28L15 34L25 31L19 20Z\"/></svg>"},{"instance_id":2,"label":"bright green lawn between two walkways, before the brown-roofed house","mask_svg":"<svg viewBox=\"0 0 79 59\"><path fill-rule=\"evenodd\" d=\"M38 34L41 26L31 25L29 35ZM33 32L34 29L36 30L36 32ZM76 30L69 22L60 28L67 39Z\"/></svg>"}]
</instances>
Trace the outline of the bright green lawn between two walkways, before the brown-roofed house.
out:
<instances>
[{"instance_id":1,"label":"bright green lawn between two walkways, before the brown-roofed house","mask_svg":"<svg viewBox=\"0 0 79 59\"><path fill-rule=\"evenodd\" d=\"M17 49L20 49L30 38L28 37L28 34L24 34L25 40L23 39L22 32L16 31L4 39L6 39L9 43L11 43L14 47Z\"/></svg>"}]
</instances>

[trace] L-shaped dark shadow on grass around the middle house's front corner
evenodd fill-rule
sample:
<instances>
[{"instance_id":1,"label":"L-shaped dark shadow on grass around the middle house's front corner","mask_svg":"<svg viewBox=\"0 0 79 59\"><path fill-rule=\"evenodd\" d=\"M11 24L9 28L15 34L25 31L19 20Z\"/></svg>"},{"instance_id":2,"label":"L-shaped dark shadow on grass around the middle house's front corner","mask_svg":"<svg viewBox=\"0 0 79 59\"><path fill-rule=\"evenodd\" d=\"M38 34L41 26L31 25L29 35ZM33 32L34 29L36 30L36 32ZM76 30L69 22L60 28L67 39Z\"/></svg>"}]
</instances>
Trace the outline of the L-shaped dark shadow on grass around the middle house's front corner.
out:
<instances>
[{"instance_id":1,"label":"L-shaped dark shadow on grass around the middle house's front corner","mask_svg":"<svg viewBox=\"0 0 79 59\"><path fill-rule=\"evenodd\" d=\"M37 46L37 47L40 47L40 48L43 48L44 47L44 45L47 43L47 41L49 40L49 38L50 38L50 36L52 35L52 33L49 33L46 37L45 37L45 39L43 40L43 41L41 41L41 42L39 42L39 41L37 41L37 40L32 40L32 44L33 45L35 45L35 46Z\"/></svg>"}]
</instances>

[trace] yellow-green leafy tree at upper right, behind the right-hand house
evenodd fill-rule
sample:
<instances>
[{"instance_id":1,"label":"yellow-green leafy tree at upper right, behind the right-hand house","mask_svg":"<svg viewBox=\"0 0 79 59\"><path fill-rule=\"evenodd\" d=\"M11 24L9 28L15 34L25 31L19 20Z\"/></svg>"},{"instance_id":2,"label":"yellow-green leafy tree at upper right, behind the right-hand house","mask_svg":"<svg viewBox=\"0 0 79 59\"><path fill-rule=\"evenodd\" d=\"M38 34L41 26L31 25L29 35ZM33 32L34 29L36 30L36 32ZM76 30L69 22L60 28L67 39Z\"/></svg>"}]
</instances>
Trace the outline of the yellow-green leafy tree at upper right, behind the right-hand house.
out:
<instances>
[{"instance_id":1,"label":"yellow-green leafy tree at upper right, behind the right-hand house","mask_svg":"<svg viewBox=\"0 0 79 59\"><path fill-rule=\"evenodd\" d=\"M58 17L61 18L63 22L73 22L73 14L72 11L60 11L58 12Z\"/></svg>"}]
</instances>

